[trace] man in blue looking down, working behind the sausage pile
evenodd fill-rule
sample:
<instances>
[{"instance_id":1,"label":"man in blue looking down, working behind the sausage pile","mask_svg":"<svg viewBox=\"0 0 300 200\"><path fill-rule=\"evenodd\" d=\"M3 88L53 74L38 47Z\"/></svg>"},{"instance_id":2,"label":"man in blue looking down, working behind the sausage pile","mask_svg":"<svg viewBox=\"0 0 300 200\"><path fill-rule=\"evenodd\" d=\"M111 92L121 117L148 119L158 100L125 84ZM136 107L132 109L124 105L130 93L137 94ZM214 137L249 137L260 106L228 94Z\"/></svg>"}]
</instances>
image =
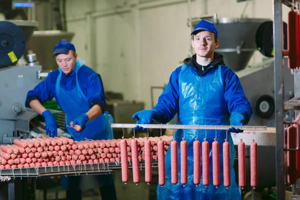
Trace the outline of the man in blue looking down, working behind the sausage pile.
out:
<instances>
[{"instance_id":1,"label":"man in blue looking down, working behind the sausage pile","mask_svg":"<svg viewBox=\"0 0 300 200\"><path fill-rule=\"evenodd\" d=\"M109 117L105 110L104 89L101 77L85 61L77 58L74 45L61 39L54 46L53 55L58 69L28 91L26 107L31 107L45 119L46 134L57 135L57 124L52 113L41 103L53 97L65 112L67 132L76 141L85 139L112 139ZM70 126L78 124L77 132ZM99 187L101 199L116 199L112 174L62 176L62 188L67 199L81 199L81 190Z\"/></svg>"}]
</instances>

